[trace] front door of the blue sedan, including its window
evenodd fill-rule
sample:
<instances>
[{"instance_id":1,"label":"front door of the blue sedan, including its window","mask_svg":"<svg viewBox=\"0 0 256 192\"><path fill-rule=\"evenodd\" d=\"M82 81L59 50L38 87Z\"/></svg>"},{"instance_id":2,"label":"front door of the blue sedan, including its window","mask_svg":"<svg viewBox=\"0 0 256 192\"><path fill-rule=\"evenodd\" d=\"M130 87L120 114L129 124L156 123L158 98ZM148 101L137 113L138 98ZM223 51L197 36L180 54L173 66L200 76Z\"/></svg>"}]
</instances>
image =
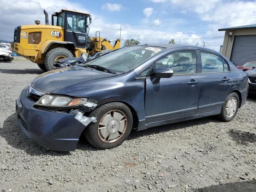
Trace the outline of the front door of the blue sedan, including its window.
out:
<instances>
[{"instance_id":1,"label":"front door of the blue sedan, including its window","mask_svg":"<svg viewBox=\"0 0 256 192\"><path fill-rule=\"evenodd\" d=\"M196 50L171 53L155 62L155 69L159 67L171 68L174 75L158 83L146 78L146 123L196 114L201 86Z\"/></svg>"}]
</instances>

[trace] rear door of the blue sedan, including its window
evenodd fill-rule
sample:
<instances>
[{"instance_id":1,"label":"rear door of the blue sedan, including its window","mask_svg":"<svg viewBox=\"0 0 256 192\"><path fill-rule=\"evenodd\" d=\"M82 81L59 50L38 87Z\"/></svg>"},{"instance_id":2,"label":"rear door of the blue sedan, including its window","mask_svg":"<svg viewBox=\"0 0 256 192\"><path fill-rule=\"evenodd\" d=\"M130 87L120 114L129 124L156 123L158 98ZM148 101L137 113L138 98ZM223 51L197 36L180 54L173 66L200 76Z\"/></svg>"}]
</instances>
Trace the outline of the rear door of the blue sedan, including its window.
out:
<instances>
[{"instance_id":1,"label":"rear door of the blue sedan, including its window","mask_svg":"<svg viewBox=\"0 0 256 192\"><path fill-rule=\"evenodd\" d=\"M220 110L235 81L226 61L214 52L200 51L201 89L198 114Z\"/></svg>"}]
</instances>

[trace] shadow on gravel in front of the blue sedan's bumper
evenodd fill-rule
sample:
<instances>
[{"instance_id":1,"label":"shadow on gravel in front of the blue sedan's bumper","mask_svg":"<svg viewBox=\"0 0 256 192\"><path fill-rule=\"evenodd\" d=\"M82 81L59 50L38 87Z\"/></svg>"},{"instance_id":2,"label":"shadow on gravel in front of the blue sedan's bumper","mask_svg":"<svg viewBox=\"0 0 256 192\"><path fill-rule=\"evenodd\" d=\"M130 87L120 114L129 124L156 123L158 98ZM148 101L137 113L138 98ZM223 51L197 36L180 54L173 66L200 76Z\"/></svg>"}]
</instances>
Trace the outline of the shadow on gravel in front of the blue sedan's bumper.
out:
<instances>
[{"instance_id":1,"label":"shadow on gravel in front of the blue sedan's bumper","mask_svg":"<svg viewBox=\"0 0 256 192\"><path fill-rule=\"evenodd\" d=\"M0 128L0 136L5 138L6 142L10 146L18 150L23 150L30 155L70 155L70 152L56 152L52 150L46 150L45 148L39 146L38 144L27 138L26 135L19 128L15 114L12 114L8 118L6 118L3 124L3 128Z\"/></svg>"}]
</instances>

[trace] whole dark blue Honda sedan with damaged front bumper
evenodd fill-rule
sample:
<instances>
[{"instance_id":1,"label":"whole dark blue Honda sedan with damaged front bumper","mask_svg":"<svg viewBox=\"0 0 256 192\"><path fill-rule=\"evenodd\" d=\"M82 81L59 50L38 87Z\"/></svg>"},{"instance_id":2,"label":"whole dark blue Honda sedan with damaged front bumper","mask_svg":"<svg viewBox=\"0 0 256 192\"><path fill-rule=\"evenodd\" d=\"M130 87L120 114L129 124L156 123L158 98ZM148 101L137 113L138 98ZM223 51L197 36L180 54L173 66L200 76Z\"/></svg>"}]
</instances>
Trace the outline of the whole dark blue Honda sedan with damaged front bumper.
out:
<instances>
[{"instance_id":1,"label":"whole dark blue Honda sedan with damaged front bumper","mask_svg":"<svg viewBox=\"0 0 256 192\"><path fill-rule=\"evenodd\" d=\"M132 128L218 115L230 121L248 93L247 74L197 46L140 45L36 77L16 100L21 130L41 146L116 147Z\"/></svg>"}]
</instances>

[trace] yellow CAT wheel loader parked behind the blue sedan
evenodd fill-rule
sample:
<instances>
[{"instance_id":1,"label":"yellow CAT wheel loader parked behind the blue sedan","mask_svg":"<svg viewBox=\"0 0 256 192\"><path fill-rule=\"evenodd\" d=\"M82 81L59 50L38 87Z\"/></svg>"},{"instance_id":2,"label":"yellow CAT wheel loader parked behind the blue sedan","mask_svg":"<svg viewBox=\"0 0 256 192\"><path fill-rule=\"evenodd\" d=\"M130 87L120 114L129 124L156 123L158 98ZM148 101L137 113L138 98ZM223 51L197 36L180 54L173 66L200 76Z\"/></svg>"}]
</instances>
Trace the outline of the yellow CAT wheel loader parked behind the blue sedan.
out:
<instances>
[{"instance_id":1,"label":"yellow CAT wheel loader parked behind the blue sedan","mask_svg":"<svg viewBox=\"0 0 256 192\"><path fill-rule=\"evenodd\" d=\"M13 52L38 64L44 71L54 69L54 62L62 58L80 57L82 53L90 56L102 50L120 48L120 39L101 38L100 32L96 32L95 37L88 36L92 22L88 13L62 9L52 14L52 25L49 25L45 10L44 14L45 25L35 20L35 25L16 27L11 44Z\"/></svg>"}]
</instances>

